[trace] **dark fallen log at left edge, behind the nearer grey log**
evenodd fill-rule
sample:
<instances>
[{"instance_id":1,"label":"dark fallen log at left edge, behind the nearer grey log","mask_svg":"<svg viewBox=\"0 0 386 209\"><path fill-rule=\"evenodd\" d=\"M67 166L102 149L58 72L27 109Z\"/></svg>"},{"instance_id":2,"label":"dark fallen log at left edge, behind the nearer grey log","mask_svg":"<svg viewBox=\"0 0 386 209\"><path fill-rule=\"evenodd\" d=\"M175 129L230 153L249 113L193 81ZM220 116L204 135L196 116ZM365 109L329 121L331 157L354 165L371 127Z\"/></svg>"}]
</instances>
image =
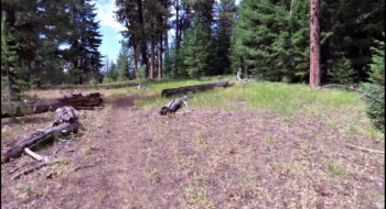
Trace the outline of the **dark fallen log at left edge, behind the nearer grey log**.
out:
<instances>
[{"instance_id":1,"label":"dark fallen log at left edge, behind the nearer grey log","mask_svg":"<svg viewBox=\"0 0 386 209\"><path fill-rule=\"evenodd\" d=\"M83 96L82 94L72 95L71 97L58 98L47 101L37 102L4 102L1 103L1 118L24 117L28 114L37 114L47 111L55 111L63 106L72 106L76 110L94 109L104 102L99 92ZM14 113L10 113L14 112Z\"/></svg>"}]
</instances>

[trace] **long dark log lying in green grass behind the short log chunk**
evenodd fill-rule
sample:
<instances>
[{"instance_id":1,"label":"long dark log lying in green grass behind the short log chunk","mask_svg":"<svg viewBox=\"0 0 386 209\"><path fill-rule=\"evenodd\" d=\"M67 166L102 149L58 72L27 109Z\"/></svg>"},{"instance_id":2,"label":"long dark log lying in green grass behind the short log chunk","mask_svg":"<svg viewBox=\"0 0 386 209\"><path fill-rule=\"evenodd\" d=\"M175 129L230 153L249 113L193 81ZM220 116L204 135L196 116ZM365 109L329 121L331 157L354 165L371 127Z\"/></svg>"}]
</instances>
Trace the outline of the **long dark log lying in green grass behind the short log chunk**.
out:
<instances>
[{"instance_id":1,"label":"long dark log lying in green grass behind the short log chunk","mask_svg":"<svg viewBox=\"0 0 386 209\"><path fill-rule=\"evenodd\" d=\"M194 85L194 86L184 86L184 87L178 87L178 88L170 88L170 89L163 89L161 92L162 97L170 97L173 95L182 95L187 92L199 92L199 91L205 91L208 89L214 89L218 87L230 87L235 84L228 82L228 81L218 81L218 82L211 82L211 84L204 84L204 85Z\"/></svg>"}]
</instances>

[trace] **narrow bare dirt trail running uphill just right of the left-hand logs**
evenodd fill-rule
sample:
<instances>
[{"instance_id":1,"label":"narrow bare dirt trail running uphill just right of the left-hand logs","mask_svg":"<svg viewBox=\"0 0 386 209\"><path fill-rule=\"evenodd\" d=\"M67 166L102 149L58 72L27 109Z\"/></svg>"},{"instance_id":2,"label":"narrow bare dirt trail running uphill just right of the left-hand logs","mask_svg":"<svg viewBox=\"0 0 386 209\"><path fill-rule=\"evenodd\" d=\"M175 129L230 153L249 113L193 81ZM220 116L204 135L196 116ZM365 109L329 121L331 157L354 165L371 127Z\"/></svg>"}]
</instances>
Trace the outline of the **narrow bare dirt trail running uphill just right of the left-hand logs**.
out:
<instances>
[{"instance_id":1,"label":"narrow bare dirt trail running uphill just right of the left-hand logs","mask_svg":"<svg viewBox=\"0 0 386 209\"><path fill-rule=\"evenodd\" d=\"M141 134L144 130L140 130L140 125L132 120L133 114L139 114L138 111L133 99L125 98L114 102L107 118L103 138L108 157L103 173L109 185L106 193L110 201L105 202L109 208L136 208L131 204L136 194L146 193L138 189L143 188L143 160L147 158Z\"/></svg>"}]
</instances>

